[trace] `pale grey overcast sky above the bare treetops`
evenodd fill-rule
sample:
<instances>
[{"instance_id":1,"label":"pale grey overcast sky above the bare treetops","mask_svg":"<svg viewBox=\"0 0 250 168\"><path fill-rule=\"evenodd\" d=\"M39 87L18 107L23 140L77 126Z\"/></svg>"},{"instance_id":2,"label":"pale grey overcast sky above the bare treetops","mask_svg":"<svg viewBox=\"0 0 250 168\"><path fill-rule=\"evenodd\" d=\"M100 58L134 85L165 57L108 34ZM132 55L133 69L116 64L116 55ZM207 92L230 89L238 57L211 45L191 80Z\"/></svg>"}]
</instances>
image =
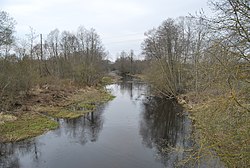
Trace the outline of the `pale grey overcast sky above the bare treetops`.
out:
<instances>
[{"instance_id":1,"label":"pale grey overcast sky above the bare treetops","mask_svg":"<svg viewBox=\"0 0 250 168\"><path fill-rule=\"evenodd\" d=\"M55 28L94 28L112 60L122 50L138 55L144 32L163 20L201 9L210 13L207 0L0 0L0 10L17 21L18 36L29 33L29 26L44 36Z\"/></svg>"}]
</instances>

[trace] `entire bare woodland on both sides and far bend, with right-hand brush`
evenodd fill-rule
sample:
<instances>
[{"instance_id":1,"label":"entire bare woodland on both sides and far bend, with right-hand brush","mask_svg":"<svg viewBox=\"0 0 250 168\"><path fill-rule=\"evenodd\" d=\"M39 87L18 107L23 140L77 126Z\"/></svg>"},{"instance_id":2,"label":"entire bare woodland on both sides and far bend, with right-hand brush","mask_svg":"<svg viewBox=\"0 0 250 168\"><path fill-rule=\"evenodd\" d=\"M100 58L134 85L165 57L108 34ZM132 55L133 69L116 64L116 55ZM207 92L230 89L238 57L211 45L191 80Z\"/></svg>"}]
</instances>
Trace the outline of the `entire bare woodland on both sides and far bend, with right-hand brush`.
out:
<instances>
[{"instance_id":1,"label":"entire bare woodland on both sides and far bend, with right-hand brush","mask_svg":"<svg viewBox=\"0 0 250 168\"><path fill-rule=\"evenodd\" d=\"M250 6L248 0L211 1L203 12L168 18L145 32L143 60L133 50L115 62L95 29L30 27L15 37L15 19L0 12L0 112L12 113L34 88L98 87L111 71L140 76L155 95L189 111L199 144L189 160L214 151L228 167L250 166ZM0 123L1 124L1 123ZM1 138L0 138L1 140Z\"/></svg>"}]
</instances>

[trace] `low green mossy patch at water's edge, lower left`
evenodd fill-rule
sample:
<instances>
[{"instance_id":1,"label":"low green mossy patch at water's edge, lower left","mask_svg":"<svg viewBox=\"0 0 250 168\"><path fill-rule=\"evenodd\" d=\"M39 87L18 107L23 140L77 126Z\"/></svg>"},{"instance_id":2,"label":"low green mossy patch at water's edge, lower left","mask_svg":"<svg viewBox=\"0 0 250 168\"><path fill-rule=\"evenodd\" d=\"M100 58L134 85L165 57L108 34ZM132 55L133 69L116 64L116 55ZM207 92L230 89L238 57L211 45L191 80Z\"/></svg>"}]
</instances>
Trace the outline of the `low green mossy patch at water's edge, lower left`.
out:
<instances>
[{"instance_id":1,"label":"low green mossy patch at water's edge, lower left","mask_svg":"<svg viewBox=\"0 0 250 168\"><path fill-rule=\"evenodd\" d=\"M25 113L15 121L7 121L0 127L0 141L13 142L35 137L56 129L58 123L37 113Z\"/></svg>"}]
</instances>

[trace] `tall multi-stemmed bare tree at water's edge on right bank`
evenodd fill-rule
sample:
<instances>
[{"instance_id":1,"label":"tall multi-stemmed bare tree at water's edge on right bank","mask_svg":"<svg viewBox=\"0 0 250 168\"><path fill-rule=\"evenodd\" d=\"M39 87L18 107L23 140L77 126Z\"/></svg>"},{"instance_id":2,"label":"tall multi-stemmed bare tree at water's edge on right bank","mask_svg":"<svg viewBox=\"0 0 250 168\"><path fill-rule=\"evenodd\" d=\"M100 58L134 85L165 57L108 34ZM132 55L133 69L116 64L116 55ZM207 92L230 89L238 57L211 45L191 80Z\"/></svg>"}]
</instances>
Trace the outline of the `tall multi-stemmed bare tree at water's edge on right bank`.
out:
<instances>
[{"instance_id":1,"label":"tall multi-stemmed bare tree at water's edge on right bank","mask_svg":"<svg viewBox=\"0 0 250 168\"><path fill-rule=\"evenodd\" d=\"M180 28L173 19L164 21L158 29L146 33L143 53L146 58L155 60L163 74L164 86L158 86L166 95L176 95L181 90L179 63L183 48L180 44Z\"/></svg>"}]
</instances>

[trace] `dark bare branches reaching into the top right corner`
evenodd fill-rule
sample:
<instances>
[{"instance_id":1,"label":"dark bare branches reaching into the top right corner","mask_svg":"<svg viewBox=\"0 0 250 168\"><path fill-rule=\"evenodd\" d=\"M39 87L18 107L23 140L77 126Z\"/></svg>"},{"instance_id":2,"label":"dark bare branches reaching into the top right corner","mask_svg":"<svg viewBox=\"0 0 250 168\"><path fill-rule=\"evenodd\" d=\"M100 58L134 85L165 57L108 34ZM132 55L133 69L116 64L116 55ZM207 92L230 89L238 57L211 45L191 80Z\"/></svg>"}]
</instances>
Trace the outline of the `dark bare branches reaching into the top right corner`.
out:
<instances>
[{"instance_id":1,"label":"dark bare branches reaching into the top right corner","mask_svg":"<svg viewBox=\"0 0 250 168\"><path fill-rule=\"evenodd\" d=\"M216 35L237 57L250 62L250 2L248 0L222 0L211 2L217 18L212 20Z\"/></svg>"}]
</instances>

